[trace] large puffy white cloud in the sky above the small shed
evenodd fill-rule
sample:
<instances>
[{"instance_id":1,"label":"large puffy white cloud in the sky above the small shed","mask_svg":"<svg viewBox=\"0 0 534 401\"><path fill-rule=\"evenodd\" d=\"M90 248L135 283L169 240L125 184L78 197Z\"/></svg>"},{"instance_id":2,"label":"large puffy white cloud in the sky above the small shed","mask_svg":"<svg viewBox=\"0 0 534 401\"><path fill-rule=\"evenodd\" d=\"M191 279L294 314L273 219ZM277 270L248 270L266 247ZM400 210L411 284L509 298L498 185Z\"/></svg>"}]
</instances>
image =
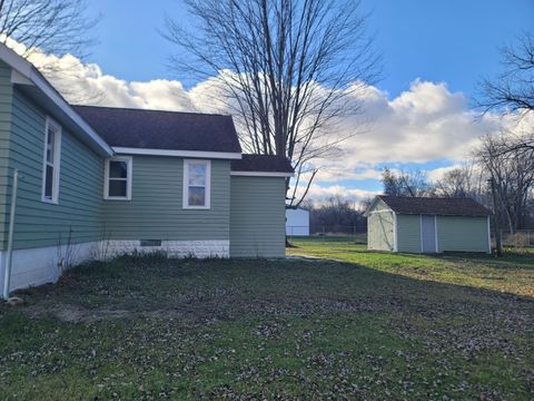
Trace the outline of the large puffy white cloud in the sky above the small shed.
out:
<instances>
[{"instance_id":1,"label":"large puffy white cloud in the sky above the small shed","mask_svg":"<svg viewBox=\"0 0 534 401\"><path fill-rule=\"evenodd\" d=\"M433 159L462 160L477 139L498 128L498 119L476 114L463 94L452 94L445 84L415 80L409 90L388 100L376 95L364 99L364 115L345 120L342 129L354 129L372 118L370 130L345 143L346 169L359 164L426 163Z\"/></svg>"}]
</instances>

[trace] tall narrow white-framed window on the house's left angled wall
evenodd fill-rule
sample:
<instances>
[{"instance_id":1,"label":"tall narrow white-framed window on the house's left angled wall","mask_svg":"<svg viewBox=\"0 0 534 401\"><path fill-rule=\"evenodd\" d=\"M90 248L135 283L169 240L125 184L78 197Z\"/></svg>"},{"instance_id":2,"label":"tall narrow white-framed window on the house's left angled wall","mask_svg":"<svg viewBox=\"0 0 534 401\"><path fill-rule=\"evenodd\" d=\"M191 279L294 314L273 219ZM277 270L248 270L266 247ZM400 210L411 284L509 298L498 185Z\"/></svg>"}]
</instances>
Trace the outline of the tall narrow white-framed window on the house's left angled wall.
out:
<instances>
[{"instance_id":1,"label":"tall narrow white-framed window on the house's left angled wall","mask_svg":"<svg viewBox=\"0 0 534 401\"><path fill-rule=\"evenodd\" d=\"M61 127L49 117L47 117L44 127L41 199L43 202L58 203L59 160L61 157Z\"/></svg>"}]
</instances>

